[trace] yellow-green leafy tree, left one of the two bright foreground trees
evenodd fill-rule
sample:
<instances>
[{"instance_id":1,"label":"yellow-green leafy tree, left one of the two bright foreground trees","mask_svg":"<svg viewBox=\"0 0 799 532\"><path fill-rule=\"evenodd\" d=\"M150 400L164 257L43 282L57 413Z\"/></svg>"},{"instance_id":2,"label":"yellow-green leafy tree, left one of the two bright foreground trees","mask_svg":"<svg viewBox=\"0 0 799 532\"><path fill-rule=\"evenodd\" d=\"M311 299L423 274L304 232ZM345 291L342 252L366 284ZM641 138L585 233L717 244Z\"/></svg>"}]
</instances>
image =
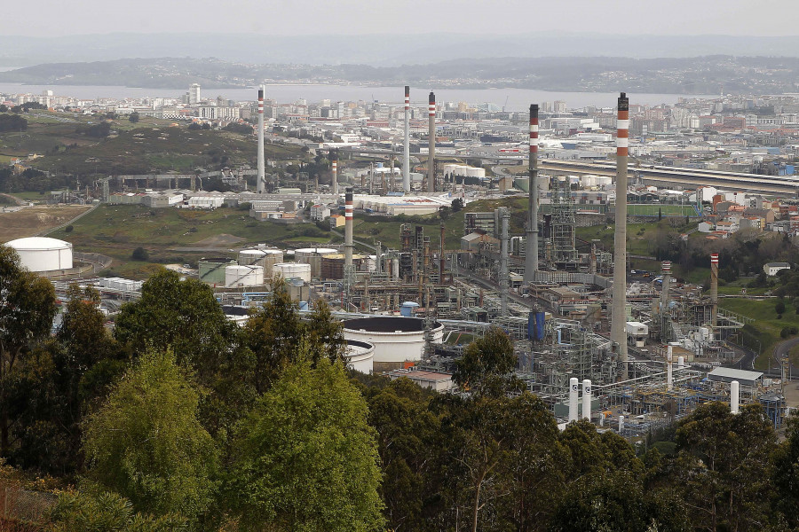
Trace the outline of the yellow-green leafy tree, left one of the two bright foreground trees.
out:
<instances>
[{"instance_id":1,"label":"yellow-green leafy tree, left one of the two bright foreground trees","mask_svg":"<svg viewBox=\"0 0 799 532\"><path fill-rule=\"evenodd\" d=\"M139 512L174 513L197 525L214 500L218 466L199 401L172 353L141 356L86 423L89 477Z\"/></svg>"}]
</instances>

